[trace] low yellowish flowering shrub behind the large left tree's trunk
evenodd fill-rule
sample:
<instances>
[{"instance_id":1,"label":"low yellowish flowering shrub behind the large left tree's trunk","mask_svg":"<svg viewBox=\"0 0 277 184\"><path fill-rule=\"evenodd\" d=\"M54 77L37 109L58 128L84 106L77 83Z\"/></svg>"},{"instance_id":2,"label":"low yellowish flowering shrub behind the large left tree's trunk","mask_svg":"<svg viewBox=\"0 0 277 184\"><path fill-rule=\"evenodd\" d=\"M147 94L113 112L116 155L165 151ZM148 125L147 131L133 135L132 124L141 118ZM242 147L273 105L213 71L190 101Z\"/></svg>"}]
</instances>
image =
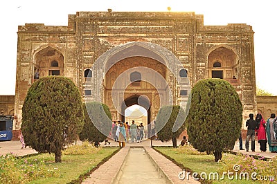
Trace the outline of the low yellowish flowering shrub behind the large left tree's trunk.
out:
<instances>
[{"instance_id":1,"label":"low yellowish flowering shrub behind the large left tree's trunk","mask_svg":"<svg viewBox=\"0 0 277 184\"><path fill-rule=\"evenodd\" d=\"M84 155L84 154L96 154L102 147L94 147L87 140L82 141L82 145L70 145L62 151L64 155Z\"/></svg>"}]
</instances>

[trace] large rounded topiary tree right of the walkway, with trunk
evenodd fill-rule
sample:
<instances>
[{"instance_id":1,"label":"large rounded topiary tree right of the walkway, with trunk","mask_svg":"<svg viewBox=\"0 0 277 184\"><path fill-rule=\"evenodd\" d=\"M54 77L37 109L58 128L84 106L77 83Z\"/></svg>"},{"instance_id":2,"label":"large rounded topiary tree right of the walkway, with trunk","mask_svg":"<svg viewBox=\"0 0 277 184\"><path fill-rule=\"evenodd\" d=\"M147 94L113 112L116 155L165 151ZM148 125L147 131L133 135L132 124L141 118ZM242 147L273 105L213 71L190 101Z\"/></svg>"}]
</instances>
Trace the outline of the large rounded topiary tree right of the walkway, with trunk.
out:
<instances>
[{"instance_id":1,"label":"large rounded topiary tree right of the walkway, with trunk","mask_svg":"<svg viewBox=\"0 0 277 184\"><path fill-rule=\"evenodd\" d=\"M186 125L195 149L213 153L215 162L222 159L223 149L233 149L242 127L242 103L233 86L221 79L197 82Z\"/></svg>"}]
</instances>

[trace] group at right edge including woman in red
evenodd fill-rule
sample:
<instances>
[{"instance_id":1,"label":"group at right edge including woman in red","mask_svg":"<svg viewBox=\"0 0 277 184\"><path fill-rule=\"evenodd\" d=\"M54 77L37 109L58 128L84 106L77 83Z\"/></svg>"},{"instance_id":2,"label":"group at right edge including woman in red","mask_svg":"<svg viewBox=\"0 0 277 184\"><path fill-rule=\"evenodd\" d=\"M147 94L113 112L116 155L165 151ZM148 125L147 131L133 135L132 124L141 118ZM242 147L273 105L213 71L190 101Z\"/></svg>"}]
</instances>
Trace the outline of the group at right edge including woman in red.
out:
<instances>
[{"instance_id":1,"label":"group at right edge including woman in red","mask_svg":"<svg viewBox=\"0 0 277 184\"><path fill-rule=\"evenodd\" d=\"M245 149L249 151L249 141L251 140L251 151L255 151L255 137L258 136L260 151L267 151L267 143L271 153L277 153L277 117L275 113L271 113L267 121L262 118L262 114L258 113L254 120L253 113L249 114L249 120L246 122L247 139ZM240 146L240 149L242 147Z\"/></svg>"}]
</instances>

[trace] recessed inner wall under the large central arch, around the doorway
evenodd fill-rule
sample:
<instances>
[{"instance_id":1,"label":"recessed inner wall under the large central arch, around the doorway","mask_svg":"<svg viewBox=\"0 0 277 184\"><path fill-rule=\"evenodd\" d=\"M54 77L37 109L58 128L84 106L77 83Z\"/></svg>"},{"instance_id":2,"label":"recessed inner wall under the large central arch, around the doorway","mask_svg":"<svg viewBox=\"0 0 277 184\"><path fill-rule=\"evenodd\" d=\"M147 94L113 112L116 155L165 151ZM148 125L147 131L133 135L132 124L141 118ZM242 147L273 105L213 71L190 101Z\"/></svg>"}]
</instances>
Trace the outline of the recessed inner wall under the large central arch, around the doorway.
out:
<instances>
[{"instance_id":1,"label":"recessed inner wall under the large central arch, around the doorway","mask_svg":"<svg viewBox=\"0 0 277 184\"><path fill-rule=\"evenodd\" d=\"M151 80L149 71L155 73ZM111 66L103 82L103 101L109 106L113 120L125 121L125 109L134 104L147 109L148 124L154 120L162 105L160 98L168 98L168 88L163 87L167 72L159 61L141 56L127 57Z\"/></svg>"}]
</instances>

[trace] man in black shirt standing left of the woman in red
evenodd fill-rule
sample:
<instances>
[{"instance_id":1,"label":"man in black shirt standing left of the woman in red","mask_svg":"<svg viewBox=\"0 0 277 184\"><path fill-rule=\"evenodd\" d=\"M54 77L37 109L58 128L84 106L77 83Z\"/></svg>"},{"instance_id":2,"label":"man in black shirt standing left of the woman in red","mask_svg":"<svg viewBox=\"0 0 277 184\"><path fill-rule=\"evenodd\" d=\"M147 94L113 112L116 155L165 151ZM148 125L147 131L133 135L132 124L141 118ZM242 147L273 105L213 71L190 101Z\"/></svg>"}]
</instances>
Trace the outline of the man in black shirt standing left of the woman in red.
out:
<instances>
[{"instance_id":1,"label":"man in black shirt standing left of the woman in red","mask_svg":"<svg viewBox=\"0 0 277 184\"><path fill-rule=\"evenodd\" d=\"M249 151L249 140L251 138L251 150L255 152L255 129L257 127L257 122L254 120L253 113L249 114L249 120L246 122L247 125L247 140L245 142L245 149Z\"/></svg>"}]
</instances>

